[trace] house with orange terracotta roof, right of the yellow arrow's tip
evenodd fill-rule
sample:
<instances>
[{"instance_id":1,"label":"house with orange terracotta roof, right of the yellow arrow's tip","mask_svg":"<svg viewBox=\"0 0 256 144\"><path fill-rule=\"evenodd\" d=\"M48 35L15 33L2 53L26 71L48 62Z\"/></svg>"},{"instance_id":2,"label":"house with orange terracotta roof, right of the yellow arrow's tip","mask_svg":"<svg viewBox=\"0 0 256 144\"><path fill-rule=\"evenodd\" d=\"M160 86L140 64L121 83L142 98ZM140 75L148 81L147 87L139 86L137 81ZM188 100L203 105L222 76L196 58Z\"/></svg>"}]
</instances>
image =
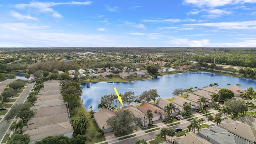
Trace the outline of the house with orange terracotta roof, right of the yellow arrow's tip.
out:
<instances>
[{"instance_id":1,"label":"house with orange terracotta roof, right of the yellow arrow's tip","mask_svg":"<svg viewBox=\"0 0 256 144\"><path fill-rule=\"evenodd\" d=\"M168 117L168 114L164 112L164 110L148 102L142 102L142 104L138 106L138 109L142 111L144 114L147 114L147 111L151 110L153 113L152 121L160 120L160 118L164 119Z\"/></svg>"}]
</instances>

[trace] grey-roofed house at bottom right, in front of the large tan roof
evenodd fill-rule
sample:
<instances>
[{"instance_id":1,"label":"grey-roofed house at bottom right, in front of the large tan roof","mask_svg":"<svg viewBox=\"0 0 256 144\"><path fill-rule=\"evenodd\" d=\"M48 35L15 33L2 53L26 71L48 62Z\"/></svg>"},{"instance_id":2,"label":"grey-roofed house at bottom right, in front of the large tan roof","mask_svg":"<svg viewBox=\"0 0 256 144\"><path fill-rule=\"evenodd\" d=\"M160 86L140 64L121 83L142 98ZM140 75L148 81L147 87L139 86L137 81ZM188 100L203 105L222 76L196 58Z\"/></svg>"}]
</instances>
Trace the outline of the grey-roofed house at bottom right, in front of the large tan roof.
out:
<instances>
[{"instance_id":1,"label":"grey-roofed house at bottom right, in front of the large tan roof","mask_svg":"<svg viewBox=\"0 0 256 144\"><path fill-rule=\"evenodd\" d=\"M212 144L253 144L216 125L198 130L198 136Z\"/></svg>"}]
</instances>

